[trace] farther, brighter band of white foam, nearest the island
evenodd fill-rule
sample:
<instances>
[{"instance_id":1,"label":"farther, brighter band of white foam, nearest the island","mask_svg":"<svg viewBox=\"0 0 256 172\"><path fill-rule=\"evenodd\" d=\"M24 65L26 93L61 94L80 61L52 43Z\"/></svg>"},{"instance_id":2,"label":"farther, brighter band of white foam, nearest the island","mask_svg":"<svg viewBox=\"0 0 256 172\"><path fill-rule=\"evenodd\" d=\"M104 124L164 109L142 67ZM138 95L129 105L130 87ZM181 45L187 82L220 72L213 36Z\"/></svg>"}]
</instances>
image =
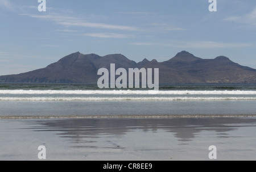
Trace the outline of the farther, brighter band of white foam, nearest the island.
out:
<instances>
[{"instance_id":1,"label":"farther, brighter band of white foam, nearest the island","mask_svg":"<svg viewBox=\"0 0 256 172\"><path fill-rule=\"evenodd\" d=\"M256 95L256 91L243 90L0 90L0 94L77 94L77 95Z\"/></svg>"}]
</instances>

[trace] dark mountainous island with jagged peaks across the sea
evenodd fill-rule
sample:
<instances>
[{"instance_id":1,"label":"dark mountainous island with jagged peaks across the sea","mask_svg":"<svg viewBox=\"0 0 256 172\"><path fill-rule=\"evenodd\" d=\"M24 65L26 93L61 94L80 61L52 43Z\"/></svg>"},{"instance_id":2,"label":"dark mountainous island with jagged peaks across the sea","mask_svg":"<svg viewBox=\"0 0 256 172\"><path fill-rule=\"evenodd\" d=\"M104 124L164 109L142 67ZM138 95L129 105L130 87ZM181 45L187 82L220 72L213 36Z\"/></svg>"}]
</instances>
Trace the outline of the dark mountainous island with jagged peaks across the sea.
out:
<instances>
[{"instance_id":1,"label":"dark mountainous island with jagged peaks across the sea","mask_svg":"<svg viewBox=\"0 0 256 172\"><path fill-rule=\"evenodd\" d=\"M168 61L141 62L129 60L122 54L69 54L46 68L31 72L2 75L0 82L26 83L97 83L100 68L159 68L159 83L256 83L256 69L241 66L225 56L203 59L181 51Z\"/></svg>"}]
</instances>

